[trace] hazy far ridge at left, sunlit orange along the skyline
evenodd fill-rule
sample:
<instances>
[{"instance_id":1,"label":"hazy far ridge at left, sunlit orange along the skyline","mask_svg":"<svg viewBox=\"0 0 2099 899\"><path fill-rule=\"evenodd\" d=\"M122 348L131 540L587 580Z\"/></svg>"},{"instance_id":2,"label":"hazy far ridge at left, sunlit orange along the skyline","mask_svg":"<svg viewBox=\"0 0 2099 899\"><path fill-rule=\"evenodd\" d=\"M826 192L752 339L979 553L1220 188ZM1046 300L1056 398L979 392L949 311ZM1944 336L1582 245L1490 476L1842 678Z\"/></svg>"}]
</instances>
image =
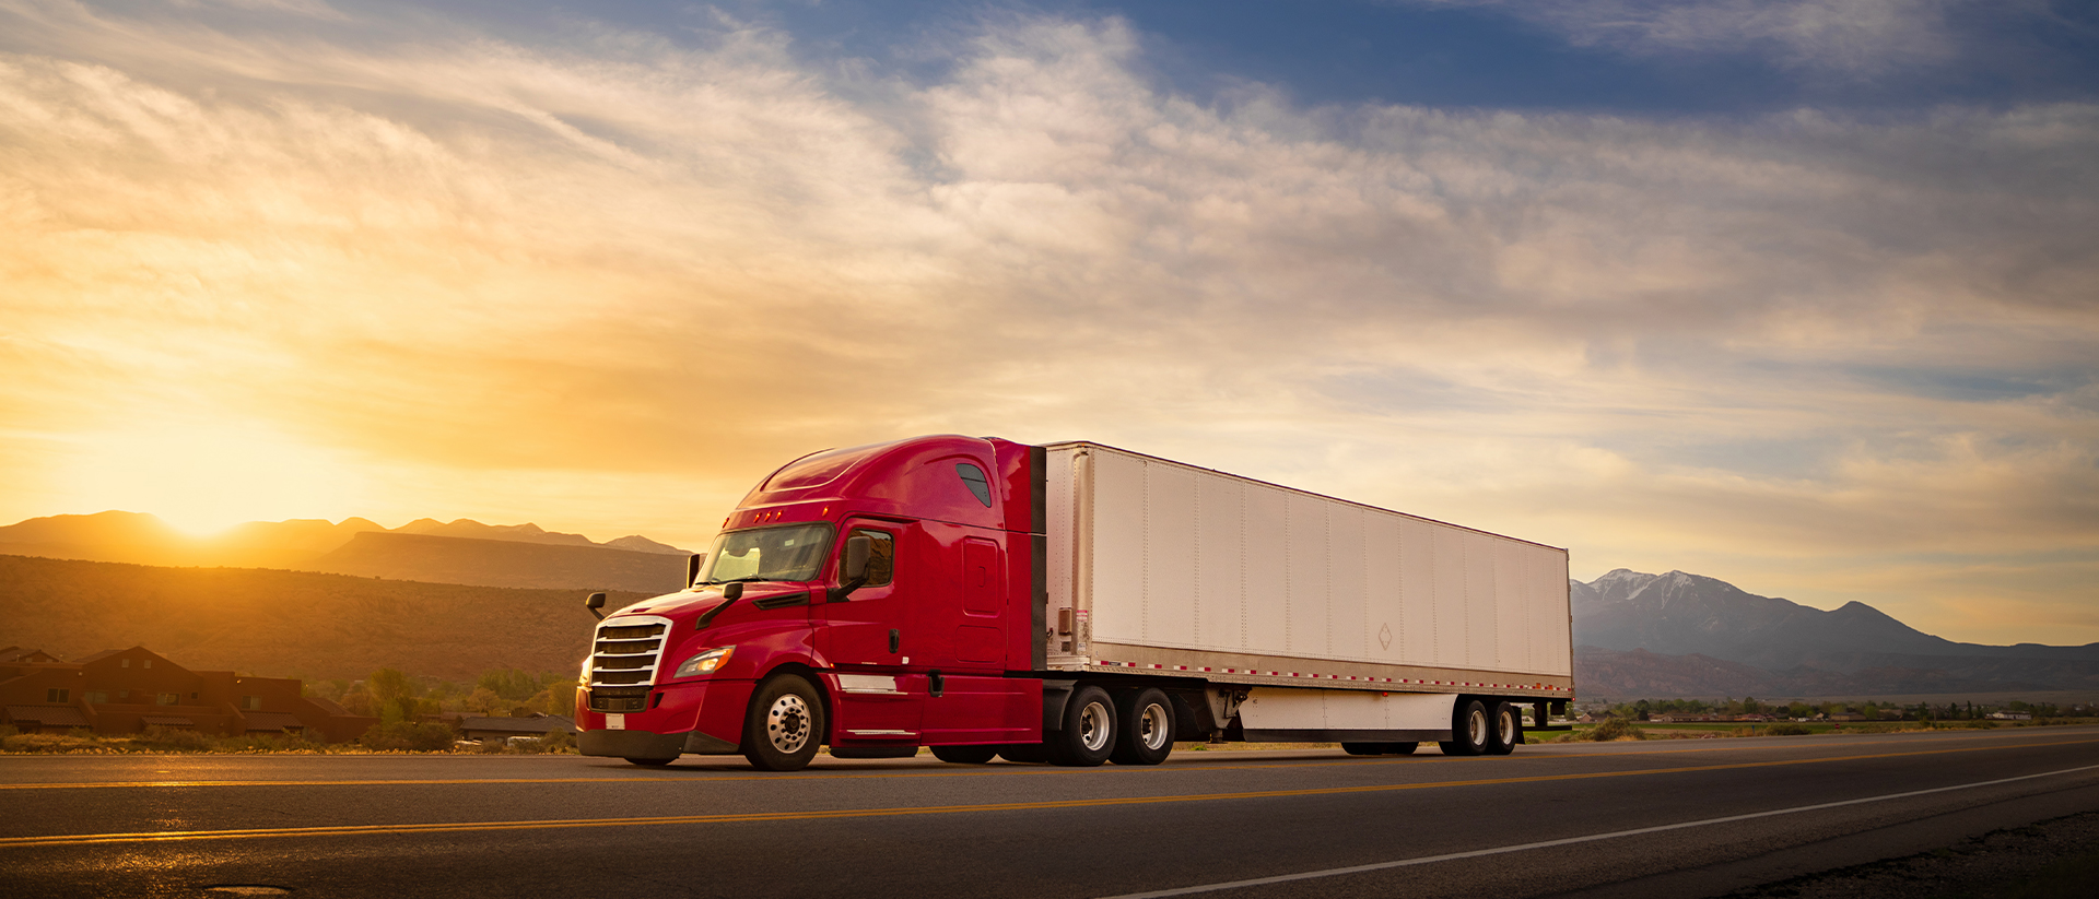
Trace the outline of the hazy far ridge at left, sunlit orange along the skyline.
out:
<instances>
[{"instance_id":1,"label":"hazy far ridge at left, sunlit orange along the skyline","mask_svg":"<svg viewBox=\"0 0 2099 899\"><path fill-rule=\"evenodd\" d=\"M134 511L10 524L0 528L0 553L149 566L292 568L485 587L642 591L676 589L688 555L638 534L592 543L584 534L550 532L537 524L481 524L468 518L420 518L393 530L363 518L248 522L225 534L197 539Z\"/></svg>"}]
</instances>

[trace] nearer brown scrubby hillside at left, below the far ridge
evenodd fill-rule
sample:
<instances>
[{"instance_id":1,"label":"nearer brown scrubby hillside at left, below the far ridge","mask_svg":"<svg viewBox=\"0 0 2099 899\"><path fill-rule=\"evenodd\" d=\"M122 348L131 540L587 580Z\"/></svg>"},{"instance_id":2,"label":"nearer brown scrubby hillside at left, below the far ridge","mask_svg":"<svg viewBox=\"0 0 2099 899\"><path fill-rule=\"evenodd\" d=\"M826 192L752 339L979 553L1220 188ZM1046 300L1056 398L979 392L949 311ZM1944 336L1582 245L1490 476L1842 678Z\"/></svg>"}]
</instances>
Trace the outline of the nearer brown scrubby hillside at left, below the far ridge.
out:
<instances>
[{"instance_id":1,"label":"nearer brown scrubby hillside at left, below the far ridge","mask_svg":"<svg viewBox=\"0 0 2099 899\"><path fill-rule=\"evenodd\" d=\"M357 679L393 666L460 681L573 671L592 622L577 589L0 555L0 643L61 658L145 645L204 671Z\"/></svg>"}]
</instances>

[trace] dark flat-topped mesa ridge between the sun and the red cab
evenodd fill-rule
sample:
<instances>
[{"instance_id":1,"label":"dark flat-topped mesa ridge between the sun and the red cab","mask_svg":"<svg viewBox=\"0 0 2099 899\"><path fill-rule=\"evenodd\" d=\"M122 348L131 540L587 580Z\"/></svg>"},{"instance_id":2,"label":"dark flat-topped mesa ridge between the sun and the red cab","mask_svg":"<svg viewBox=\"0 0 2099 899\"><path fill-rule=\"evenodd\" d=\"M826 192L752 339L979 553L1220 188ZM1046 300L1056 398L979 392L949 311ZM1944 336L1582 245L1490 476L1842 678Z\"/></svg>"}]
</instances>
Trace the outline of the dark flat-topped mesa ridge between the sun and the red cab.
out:
<instances>
[{"instance_id":1,"label":"dark flat-topped mesa ridge between the sun and the red cab","mask_svg":"<svg viewBox=\"0 0 2099 899\"><path fill-rule=\"evenodd\" d=\"M363 532L302 568L439 585L575 587L655 595L684 585L684 555L636 553L590 543Z\"/></svg>"}]
</instances>

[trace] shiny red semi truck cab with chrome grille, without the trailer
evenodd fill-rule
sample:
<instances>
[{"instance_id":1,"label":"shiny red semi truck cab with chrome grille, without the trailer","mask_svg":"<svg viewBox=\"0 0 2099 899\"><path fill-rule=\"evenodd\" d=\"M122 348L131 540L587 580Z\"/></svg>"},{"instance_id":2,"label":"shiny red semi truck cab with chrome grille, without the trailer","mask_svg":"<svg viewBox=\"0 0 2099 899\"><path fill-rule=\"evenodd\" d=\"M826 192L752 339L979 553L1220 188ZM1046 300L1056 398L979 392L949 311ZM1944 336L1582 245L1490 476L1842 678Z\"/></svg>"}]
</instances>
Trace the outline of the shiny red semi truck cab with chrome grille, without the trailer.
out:
<instances>
[{"instance_id":1,"label":"shiny red semi truck cab with chrome grille, without the trailer","mask_svg":"<svg viewBox=\"0 0 2099 899\"><path fill-rule=\"evenodd\" d=\"M1039 666L1039 455L940 436L781 467L684 591L598 624L581 752L796 769L821 744L879 759L1041 742L1041 679L1008 677Z\"/></svg>"}]
</instances>

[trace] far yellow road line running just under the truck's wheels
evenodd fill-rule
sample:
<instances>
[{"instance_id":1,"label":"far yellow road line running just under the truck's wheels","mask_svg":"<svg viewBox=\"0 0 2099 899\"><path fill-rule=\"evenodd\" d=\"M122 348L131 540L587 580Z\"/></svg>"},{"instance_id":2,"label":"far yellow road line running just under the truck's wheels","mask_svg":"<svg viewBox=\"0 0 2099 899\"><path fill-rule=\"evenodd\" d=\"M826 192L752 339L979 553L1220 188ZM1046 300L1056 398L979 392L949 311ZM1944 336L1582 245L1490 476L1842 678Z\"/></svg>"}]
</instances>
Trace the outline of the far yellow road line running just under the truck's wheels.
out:
<instances>
[{"instance_id":1,"label":"far yellow road line running just under the truck's wheels","mask_svg":"<svg viewBox=\"0 0 2099 899\"><path fill-rule=\"evenodd\" d=\"M1904 740L1872 740L1858 742L1849 746L1885 746L1893 742L1918 744L1918 742L1967 742L1981 740L1990 736L2011 736L2011 733L1963 733L1963 736L1931 736L1931 738L1904 738ZM2072 740L2076 742L2076 740ZM2057 744L2019 744L2019 746L2057 746ZM1631 752L1583 752L1574 757L1539 757L1539 754L1515 754L1509 761L1555 761L1555 759L1620 759L1620 757L1646 757L1646 754L1696 754L1696 752L1732 752L1744 748L1765 748L1765 750L1816 750L1832 748L1830 744L1784 744L1784 746L1698 746L1698 748L1656 748L1656 750L1631 750ZM730 759L730 757L724 757ZM1335 759L1335 761L1303 761L1303 763L1259 763L1257 759L1247 759L1247 763L1234 763L1234 759L1203 759L1203 765L1188 759L1190 765L1173 765L1159 769L1125 769L1125 773L1159 771L1159 773L1190 773L1190 771L1266 771L1285 767L1364 767L1364 765L1421 765L1438 763L1444 757L1398 757L1398 759ZM1864 757L1870 759L1870 757ZM758 773L739 771L722 775L649 775L649 777L420 777L420 780L124 780L124 782L52 782L52 784L0 784L0 790L111 790L111 788L220 788L220 786L466 786L466 784L709 784L724 780L894 780L894 777L1024 777L1024 775L1058 775L1077 773L1064 767L1026 767L1026 769L936 769L936 771L798 771L798 773Z\"/></svg>"}]
</instances>

